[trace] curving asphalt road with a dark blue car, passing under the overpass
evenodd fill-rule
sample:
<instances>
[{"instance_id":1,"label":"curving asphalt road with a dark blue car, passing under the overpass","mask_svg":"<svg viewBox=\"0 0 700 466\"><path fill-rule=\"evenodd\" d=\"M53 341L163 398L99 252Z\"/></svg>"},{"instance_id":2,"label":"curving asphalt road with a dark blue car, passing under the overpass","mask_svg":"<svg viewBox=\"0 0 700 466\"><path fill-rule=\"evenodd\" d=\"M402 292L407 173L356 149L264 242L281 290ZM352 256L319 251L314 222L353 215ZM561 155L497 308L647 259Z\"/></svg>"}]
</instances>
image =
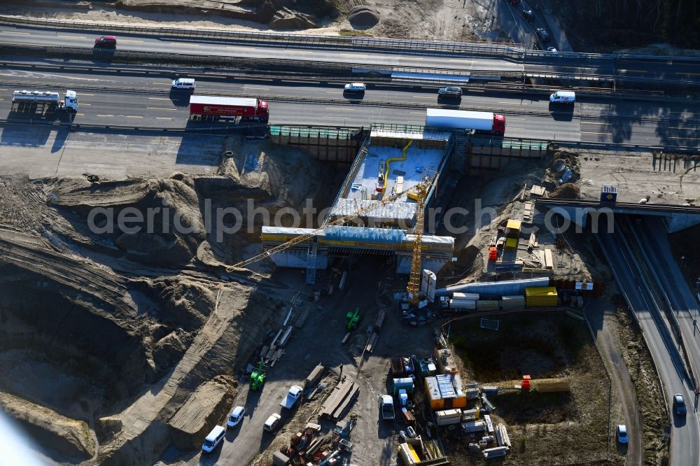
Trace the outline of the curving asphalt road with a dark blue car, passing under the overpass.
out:
<instances>
[{"instance_id":1,"label":"curving asphalt road with a dark blue car, passing under the overpass","mask_svg":"<svg viewBox=\"0 0 700 466\"><path fill-rule=\"evenodd\" d=\"M615 230L617 230L617 224ZM620 232L600 233L596 236L601 242L617 285L623 291L626 302L642 328L644 339L664 386L668 410L671 411L671 397L674 393L682 393L688 405L687 416L671 413L671 464L699 465L700 425L694 409L695 397L691 383L685 377L683 363L675 343L668 334L660 330L664 324L654 309L654 299L645 289L640 270L634 263L635 258Z\"/></svg>"}]
</instances>

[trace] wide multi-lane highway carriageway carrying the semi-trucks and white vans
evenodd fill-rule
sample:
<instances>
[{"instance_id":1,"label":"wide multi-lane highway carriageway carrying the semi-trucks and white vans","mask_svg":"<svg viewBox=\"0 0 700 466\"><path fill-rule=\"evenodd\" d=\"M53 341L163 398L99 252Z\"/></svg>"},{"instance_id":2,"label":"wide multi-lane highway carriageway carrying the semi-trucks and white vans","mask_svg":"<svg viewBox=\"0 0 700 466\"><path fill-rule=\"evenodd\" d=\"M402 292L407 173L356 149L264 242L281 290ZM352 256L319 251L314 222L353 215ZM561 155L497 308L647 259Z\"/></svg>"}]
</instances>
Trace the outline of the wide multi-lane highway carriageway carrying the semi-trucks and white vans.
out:
<instances>
[{"instance_id":1,"label":"wide multi-lane highway carriageway carrying the semi-trucks and white vans","mask_svg":"<svg viewBox=\"0 0 700 466\"><path fill-rule=\"evenodd\" d=\"M141 127L185 127L186 92L169 92L170 77L124 76L110 73L30 71L7 67L0 71L0 116L10 113L11 92L17 89L55 90L55 83L78 90L76 122ZM4 83L4 84L3 84ZM88 90L81 90L87 88ZM63 89L59 89L63 92ZM137 92L134 92L137 91ZM342 83L315 84L280 80L197 78L197 94L272 97L273 124L369 126L373 122L422 125L423 108L381 106L391 102L444 106L430 87L369 85L361 99L342 91ZM274 96L310 99L308 103L275 101ZM313 100L337 103L311 103ZM363 105L362 102L378 105ZM507 136L564 141L632 143L643 146L693 146L697 137L695 108L683 104L582 99L574 108L552 106L521 94L467 92L448 108L482 108L505 113ZM700 108L698 108L700 110ZM531 113L535 113L534 115ZM644 121L642 118L650 118ZM658 119L654 121L653 119Z\"/></svg>"}]
</instances>

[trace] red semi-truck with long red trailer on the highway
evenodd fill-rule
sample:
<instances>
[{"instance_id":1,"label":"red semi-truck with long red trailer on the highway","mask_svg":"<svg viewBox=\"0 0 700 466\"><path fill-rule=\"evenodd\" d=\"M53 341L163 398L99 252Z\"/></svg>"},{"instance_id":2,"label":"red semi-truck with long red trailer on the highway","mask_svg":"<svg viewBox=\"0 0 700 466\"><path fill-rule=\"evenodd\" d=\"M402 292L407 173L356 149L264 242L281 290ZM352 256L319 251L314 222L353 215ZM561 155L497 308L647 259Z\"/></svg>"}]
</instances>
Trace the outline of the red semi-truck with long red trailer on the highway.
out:
<instances>
[{"instance_id":1,"label":"red semi-truck with long red trailer on the highway","mask_svg":"<svg viewBox=\"0 0 700 466\"><path fill-rule=\"evenodd\" d=\"M190 120L239 120L267 123L267 102L242 97L214 97L193 95L190 97Z\"/></svg>"}]
</instances>

